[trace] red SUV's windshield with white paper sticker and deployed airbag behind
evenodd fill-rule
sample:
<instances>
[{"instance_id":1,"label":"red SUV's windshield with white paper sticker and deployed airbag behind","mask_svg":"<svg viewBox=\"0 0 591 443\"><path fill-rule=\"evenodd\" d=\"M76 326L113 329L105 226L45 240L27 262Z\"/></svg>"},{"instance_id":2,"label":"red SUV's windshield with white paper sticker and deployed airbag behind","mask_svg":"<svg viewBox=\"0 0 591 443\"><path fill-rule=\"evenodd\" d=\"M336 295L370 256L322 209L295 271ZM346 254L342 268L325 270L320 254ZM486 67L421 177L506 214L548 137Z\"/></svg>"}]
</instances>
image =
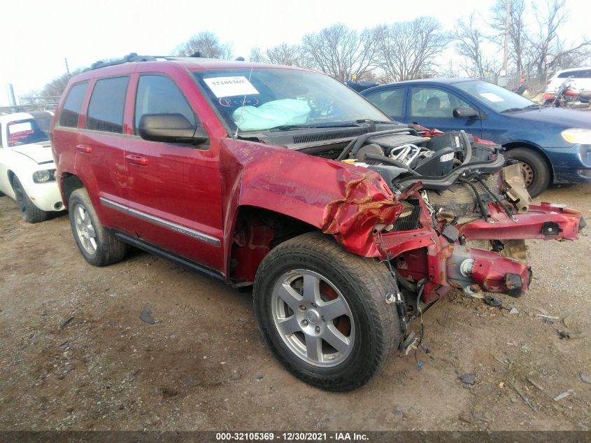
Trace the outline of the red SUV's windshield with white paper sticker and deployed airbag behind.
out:
<instances>
[{"instance_id":1,"label":"red SUV's windshield with white paper sticker and deployed airbag behind","mask_svg":"<svg viewBox=\"0 0 591 443\"><path fill-rule=\"evenodd\" d=\"M194 76L232 131L391 121L357 92L320 73L244 68L194 71Z\"/></svg>"}]
</instances>

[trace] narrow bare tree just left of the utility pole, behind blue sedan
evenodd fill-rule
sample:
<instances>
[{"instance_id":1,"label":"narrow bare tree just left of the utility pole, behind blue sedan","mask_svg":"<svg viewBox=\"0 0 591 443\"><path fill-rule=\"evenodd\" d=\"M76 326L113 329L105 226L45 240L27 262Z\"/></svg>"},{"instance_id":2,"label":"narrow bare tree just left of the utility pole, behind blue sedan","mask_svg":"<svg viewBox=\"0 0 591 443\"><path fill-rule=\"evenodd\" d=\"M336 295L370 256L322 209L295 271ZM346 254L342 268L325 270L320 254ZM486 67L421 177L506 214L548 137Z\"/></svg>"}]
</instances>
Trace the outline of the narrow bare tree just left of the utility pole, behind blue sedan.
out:
<instances>
[{"instance_id":1,"label":"narrow bare tree just left of the utility pole, behind blue sedan","mask_svg":"<svg viewBox=\"0 0 591 443\"><path fill-rule=\"evenodd\" d=\"M455 50L465 59L462 66L469 76L484 78L498 71L496 64L484 53L486 36L472 12L467 20L458 20L455 25Z\"/></svg>"}]
</instances>

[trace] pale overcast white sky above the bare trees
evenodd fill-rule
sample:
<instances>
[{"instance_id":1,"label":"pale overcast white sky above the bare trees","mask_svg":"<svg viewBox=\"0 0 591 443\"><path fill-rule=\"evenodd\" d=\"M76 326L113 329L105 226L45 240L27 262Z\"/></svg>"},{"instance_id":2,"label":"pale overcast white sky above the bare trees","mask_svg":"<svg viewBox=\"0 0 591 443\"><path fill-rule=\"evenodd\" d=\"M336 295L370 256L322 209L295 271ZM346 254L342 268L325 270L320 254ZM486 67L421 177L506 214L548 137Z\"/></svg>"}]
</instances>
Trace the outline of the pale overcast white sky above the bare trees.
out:
<instances>
[{"instance_id":1,"label":"pale overcast white sky above the bare trees","mask_svg":"<svg viewBox=\"0 0 591 443\"><path fill-rule=\"evenodd\" d=\"M383 22L413 20L420 15L439 19L451 30L472 9L486 20L493 0L29 0L3 2L0 43L0 106L8 104L6 84L17 101L66 71L103 58L169 55L199 31L212 31L232 43L234 56L248 59L250 48L263 50L336 22L353 29ZM461 7L460 4L464 4ZM371 5L364 7L364 5ZM561 31L567 41L591 35L591 1L567 0L569 23Z\"/></svg>"}]
</instances>

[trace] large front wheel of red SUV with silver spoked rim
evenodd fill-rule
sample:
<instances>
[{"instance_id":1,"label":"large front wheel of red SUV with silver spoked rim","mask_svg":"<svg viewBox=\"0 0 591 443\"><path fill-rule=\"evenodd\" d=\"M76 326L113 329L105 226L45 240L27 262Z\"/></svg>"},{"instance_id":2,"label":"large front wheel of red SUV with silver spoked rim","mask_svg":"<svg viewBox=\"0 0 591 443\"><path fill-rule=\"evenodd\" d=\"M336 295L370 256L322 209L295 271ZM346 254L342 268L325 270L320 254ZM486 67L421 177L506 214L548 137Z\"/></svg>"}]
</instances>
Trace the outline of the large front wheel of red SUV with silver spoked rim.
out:
<instances>
[{"instance_id":1,"label":"large front wheel of red SUV with silver spoked rim","mask_svg":"<svg viewBox=\"0 0 591 443\"><path fill-rule=\"evenodd\" d=\"M292 374L327 391L373 377L401 341L395 282L385 265L345 251L320 233L274 248L253 289L262 336Z\"/></svg>"}]
</instances>

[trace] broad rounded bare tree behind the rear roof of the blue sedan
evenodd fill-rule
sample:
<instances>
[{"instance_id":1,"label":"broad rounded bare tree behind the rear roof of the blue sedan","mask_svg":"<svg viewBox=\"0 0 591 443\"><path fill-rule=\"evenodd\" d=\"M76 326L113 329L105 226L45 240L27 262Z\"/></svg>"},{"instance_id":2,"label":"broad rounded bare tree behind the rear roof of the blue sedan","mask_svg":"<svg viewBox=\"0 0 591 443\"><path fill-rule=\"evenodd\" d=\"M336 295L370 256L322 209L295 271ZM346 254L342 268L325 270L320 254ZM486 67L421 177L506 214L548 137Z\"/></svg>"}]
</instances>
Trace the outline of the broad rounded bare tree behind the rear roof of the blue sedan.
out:
<instances>
[{"instance_id":1,"label":"broad rounded bare tree behind the rear roof of the blue sedan","mask_svg":"<svg viewBox=\"0 0 591 443\"><path fill-rule=\"evenodd\" d=\"M434 59L450 41L439 21L418 17L373 29L380 68L387 81L422 78L434 69Z\"/></svg>"}]
</instances>

